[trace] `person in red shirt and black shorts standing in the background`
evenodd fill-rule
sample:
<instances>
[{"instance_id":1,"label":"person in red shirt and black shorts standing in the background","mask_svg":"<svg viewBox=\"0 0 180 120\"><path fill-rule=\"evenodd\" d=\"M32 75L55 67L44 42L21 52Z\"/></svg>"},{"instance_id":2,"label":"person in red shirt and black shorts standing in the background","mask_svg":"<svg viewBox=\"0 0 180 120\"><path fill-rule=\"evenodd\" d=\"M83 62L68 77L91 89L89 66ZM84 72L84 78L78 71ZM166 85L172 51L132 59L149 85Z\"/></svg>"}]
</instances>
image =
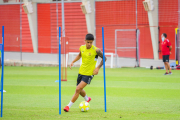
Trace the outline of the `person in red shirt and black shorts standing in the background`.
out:
<instances>
[{"instance_id":1,"label":"person in red shirt and black shorts standing in the background","mask_svg":"<svg viewBox=\"0 0 180 120\"><path fill-rule=\"evenodd\" d=\"M161 39L162 39L162 55L163 55L163 62L164 62L164 66L166 68L166 73L164 75L171 75L171 68L169 65L169 55L171 54L171 50L172 50L172 45L171 42L167 39L167 34L163 33L161 35ZM169 70L169 73L168 73Z\"/></svg>"}]
</instances>

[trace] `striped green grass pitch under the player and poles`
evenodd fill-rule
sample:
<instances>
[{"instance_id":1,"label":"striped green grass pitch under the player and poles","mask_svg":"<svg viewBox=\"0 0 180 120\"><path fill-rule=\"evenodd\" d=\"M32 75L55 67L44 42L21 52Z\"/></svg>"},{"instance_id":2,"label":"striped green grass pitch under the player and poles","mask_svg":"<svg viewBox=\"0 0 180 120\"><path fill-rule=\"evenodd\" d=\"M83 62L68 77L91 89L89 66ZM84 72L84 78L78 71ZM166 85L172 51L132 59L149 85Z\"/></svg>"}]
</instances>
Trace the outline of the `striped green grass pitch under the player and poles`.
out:
<instances>
[{"instance_id":1,"label":"striped green grass pitch under the player and poles","mask_svg":"<svg viewBox=\"0 0 180 120\"><path fill-rule=\"evenodd\" d=\"M104 112L103 69L85 88L90 110L80 112L79 96L70 112L59 115L58 67L5 67L2 120L177 120L180 119L180 71L144 68L106 69L107 112ZM62 109L76 88L78 68L68 68L62 82Z\"/></svg>"}]
</instances>

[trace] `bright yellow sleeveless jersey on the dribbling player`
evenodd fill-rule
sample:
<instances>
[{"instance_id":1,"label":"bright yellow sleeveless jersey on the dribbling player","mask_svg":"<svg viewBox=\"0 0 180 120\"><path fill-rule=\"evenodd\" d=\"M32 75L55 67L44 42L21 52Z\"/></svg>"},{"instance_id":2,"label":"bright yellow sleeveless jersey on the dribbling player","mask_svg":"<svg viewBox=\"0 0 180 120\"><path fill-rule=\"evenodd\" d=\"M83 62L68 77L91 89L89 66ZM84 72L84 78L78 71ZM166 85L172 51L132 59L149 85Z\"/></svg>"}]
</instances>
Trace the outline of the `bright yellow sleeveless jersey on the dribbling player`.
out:
<instances>
[{"instance_id":1,"label":"bright yellow sleeveless jersey on the dribbling player","mask_svg":"<svg viewBox=\"0 0 180 120\"><path fill-rule=\"evenodd\" d=\"M92 45L90 49L86 48L86 45L81 45L79 48L82 57L82 64L79 69L79 74L91 76L96 66L98 55L96 53L97 47Z\"/></svg>"}]
</instances>

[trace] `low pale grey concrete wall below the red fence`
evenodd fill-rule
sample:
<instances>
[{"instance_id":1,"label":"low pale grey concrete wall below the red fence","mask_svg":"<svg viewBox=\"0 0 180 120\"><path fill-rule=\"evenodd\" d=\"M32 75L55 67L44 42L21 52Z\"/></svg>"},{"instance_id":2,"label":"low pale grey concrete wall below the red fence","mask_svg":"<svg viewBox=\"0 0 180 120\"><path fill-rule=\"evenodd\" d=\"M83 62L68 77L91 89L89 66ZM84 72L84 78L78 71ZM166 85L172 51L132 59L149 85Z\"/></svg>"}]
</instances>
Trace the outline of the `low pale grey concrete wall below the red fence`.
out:
<instances>
[{"instance_id":1,"label":"low pale grey concrete wall below the red fence","mask_svg":"<svg viewBox=\"0 0 180 120\"><path fill-rule=\"evenodd\" d=\"M77 55L77 54L76 54ZM74 60L76 55L69 55L68 65ZM22 56L22 61L20 60ZM20 53L20 52L5 52L4 54L5 65L10 66L57 66L58 67L58 54L39 54L39 53ZM97 64L99 64L101 58L98 58ZM135 59L119 59L119 65L123 67L134 67ZM170 60L170 63L175 60ZM74 64L74 67L80 66L80 60ZM123 65L122 65L123 63ZM22 65L23 64L23 65ZM111 58L107 57L106 67L110 67ZM115 67L115 57L113 58L113 66ZM141 59L140 67L163 67L164 63L162 60L153 59Z\"/></svg>"}]
</instances>

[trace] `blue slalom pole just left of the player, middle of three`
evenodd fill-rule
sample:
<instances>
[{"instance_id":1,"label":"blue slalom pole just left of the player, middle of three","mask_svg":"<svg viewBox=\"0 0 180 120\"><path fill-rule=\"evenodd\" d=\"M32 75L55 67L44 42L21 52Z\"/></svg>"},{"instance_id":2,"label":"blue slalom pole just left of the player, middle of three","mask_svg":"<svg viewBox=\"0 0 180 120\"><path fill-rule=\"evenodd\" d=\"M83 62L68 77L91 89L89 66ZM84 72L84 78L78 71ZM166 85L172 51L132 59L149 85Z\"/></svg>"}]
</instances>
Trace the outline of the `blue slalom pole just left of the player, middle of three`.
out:
<instances>
[{"instance_id":1,"label":"blue slalom pole just left of the player, middle of three","mask_svg":"<svg viewBox=\"0 0 180 120\"><path fill-rule=\"evenodd\" d=\"M61 27L59 27L59 114L61 115Z\"/></svg>"}]
</instances>

